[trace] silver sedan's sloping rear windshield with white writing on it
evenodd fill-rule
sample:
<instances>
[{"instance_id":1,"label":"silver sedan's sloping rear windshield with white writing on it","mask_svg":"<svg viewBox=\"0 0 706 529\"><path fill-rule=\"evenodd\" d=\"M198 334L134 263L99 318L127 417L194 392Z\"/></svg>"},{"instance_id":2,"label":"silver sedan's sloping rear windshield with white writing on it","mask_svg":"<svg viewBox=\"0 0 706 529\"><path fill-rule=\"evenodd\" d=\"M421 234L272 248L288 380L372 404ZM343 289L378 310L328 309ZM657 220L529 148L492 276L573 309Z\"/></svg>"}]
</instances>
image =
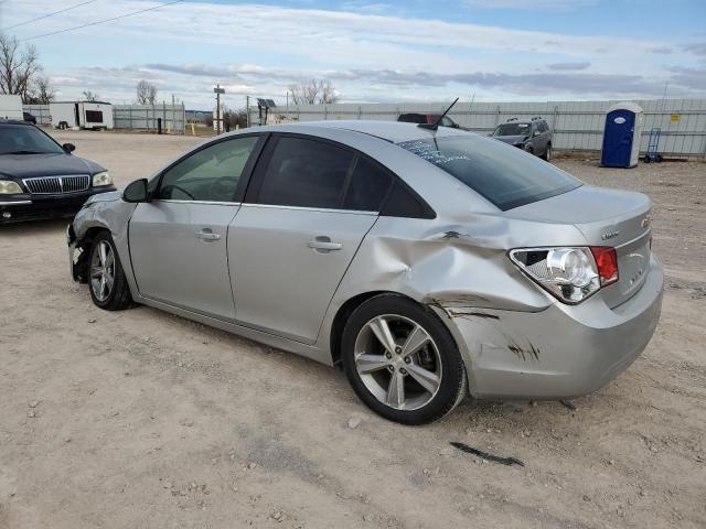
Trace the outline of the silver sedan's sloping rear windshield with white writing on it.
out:
<instances>
[{"instance_id":1,"label":"silver sedan's sloping rear windshield with white writing on it","mask_svg":"<svg viewBox=\"0 0 706 529\"><path fill-rule=\"evenodd\" d=\"M516 147L475 134L405 141L398 145L460 180L502 210L581 185L564 171Z\"/></svg>"}]
</instances>

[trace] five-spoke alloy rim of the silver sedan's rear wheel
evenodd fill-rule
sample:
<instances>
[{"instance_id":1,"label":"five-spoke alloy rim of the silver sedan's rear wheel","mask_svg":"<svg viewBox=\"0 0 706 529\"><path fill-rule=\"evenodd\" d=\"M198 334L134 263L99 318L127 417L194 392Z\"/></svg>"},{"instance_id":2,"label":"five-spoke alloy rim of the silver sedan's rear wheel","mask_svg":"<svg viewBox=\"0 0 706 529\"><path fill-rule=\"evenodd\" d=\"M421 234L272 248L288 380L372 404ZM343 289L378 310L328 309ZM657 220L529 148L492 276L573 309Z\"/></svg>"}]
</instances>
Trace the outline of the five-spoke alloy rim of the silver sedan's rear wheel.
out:
<instances>
[{"instance_id":1,"label":"five-spoke alloy rim of the silver sedan's rear wheel","mask_svg":"<svg viewBox=\"0 0 706 529\"><path fill-rule=\"evenodd\" d=\"M396 410L429 403L441 387L441 356L431 335L397 314L368 321L355 339L355 369L367 390Z\"/></svg>"}]
</instances>

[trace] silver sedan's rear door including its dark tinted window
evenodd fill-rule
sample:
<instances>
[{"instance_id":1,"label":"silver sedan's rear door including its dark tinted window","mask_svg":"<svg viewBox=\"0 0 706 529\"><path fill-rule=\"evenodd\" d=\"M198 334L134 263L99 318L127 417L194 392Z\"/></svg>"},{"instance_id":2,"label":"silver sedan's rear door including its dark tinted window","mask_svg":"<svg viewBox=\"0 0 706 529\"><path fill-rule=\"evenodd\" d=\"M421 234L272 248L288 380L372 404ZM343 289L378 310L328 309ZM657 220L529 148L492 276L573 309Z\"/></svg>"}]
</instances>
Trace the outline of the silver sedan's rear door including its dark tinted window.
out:
<instances>
[{"instance_id":1,"label":"silver sedan's rear door including its dark tinted window","mask_svg":"<svg viewBox=\"0 0 706 529\"><path fill-rule=\"evenodd\" d=\"M338 143L274 137L228 229L238 323L314 343L391 184L382 168Z\"/></svg>"}]
</instances>

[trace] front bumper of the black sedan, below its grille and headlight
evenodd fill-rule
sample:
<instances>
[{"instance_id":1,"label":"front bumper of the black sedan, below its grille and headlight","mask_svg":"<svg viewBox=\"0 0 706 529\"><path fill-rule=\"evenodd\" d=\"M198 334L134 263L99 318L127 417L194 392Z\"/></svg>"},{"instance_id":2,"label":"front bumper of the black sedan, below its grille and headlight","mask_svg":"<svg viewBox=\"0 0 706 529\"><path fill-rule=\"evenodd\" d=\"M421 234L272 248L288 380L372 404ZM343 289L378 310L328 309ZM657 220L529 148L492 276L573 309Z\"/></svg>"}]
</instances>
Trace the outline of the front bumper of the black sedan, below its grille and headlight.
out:
<instances>
[{"instance_id":1,"label":"front bumper of the black sedan, below its grille and headlight","mask_svg":"<svg viewBox=\"0 0 706 529\"><path fill-rule=\"evenodd\" d=\"M66 195L15 195L0 201L0 224L69 217L93 195L116 191L113 185Z\"/></svg>"}]
</instances>

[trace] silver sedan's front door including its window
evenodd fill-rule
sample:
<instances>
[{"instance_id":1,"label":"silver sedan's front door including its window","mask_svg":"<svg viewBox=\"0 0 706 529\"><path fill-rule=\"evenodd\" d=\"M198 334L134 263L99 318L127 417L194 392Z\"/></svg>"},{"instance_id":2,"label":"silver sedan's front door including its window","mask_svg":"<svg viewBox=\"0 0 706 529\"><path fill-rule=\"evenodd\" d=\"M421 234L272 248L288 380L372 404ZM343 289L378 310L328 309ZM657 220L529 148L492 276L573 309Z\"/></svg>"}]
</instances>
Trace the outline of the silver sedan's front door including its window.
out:
<instances>
[{"instance_id":1,"label":"silver sedan's front door including its window","mask_svg":"<svg viewBox=\"0 0 706 529\"><path fill-rule=\"evenodd\" d=\"M235 137L200 149L168 169L153 199L138 205L129 239L140 295L235 319L227 230L258 141Z\"/></svg>"}]
</instances>

